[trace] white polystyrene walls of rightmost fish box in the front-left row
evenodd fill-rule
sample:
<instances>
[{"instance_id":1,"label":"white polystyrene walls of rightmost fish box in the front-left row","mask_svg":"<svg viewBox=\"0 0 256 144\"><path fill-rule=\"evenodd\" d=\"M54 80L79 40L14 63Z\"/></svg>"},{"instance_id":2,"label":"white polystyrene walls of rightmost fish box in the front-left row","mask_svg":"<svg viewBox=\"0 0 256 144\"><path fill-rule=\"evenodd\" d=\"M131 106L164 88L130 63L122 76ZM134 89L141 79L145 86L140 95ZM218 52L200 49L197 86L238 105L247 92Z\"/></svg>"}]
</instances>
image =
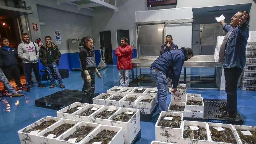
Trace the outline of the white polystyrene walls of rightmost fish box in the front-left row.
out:
<instances>
[{"instance_id":1,"label":"white polystyrene walls of rightmost fish box in the front-left row","mask_svg":"<svg viewBox=\"0 0 256 144\"><path fill-rule=\"evenodd\" d=\"M91 139L93 139L97 134L99 134L103 130L109 130L116 132L115 136L111 139L111 141L108 144L124 144L124 135L122 131L122 127L113 127L113 126L106 126L101 125L93 131L90 136L88 136L83 143L87 144L90 142Z\"/></svg>"}]
</instances>

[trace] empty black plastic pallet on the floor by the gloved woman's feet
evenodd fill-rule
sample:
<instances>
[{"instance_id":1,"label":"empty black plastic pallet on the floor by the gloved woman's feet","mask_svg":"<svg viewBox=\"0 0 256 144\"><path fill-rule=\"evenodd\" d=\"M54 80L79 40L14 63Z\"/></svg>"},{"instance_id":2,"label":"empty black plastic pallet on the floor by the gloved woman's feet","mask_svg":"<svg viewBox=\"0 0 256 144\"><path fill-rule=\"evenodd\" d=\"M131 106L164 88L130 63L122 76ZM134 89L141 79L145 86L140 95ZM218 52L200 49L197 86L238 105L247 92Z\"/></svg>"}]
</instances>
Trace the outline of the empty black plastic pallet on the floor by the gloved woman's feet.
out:
<instances>
[{"instance_id":1,"label":"empty black plastic pallet on the floor by the gloved woman's feet","mask_svg":"<svg viewBox=\"0 0 256 144\"><path fill-rule=\"evenodd\" d=\"M94 93L94 97L97 95L99 93ZM65 89L35 100L35 106L60 110L74 102L82 102L82 97L83 91Z\"/></svg>"}]
</instances>

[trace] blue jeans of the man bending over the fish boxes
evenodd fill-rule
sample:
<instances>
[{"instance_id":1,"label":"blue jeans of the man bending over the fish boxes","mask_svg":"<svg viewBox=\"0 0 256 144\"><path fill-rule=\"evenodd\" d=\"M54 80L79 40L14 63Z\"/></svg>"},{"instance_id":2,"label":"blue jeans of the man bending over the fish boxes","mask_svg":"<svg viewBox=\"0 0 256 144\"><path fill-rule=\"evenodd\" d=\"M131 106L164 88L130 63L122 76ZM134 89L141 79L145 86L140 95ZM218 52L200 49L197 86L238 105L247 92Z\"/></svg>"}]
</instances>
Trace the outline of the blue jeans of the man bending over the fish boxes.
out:
<instances>
[{"instance_id":1,"label":"blue jeans of the man bending over the fish boxes","mask_svg":"<svg viewBox=\"0 0 256 144\"><path fill-rule=\"evenodd\" d=\"M161 111L166 111L166 100L168 95L168 83L166 81L166 74L161 70L155 69L154 67L150 67L150 74L154 78L158 89L157 100L159 104L159 113Z\"/></svg>"}]
</instances>

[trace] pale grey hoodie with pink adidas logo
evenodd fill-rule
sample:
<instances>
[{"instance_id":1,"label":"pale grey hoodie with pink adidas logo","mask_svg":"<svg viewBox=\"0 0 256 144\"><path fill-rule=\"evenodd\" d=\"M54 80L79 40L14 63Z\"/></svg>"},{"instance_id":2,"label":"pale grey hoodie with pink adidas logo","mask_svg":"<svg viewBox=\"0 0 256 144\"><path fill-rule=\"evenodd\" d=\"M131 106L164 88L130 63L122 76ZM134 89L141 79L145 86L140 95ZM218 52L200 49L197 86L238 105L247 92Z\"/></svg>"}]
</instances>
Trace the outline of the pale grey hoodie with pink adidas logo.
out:
<instances>
[{"instance_id":1,"label":"pale grey hoodie with pink adidas logo","mask_svg":"<svg viewBox=\"0 0 256 144\"><path fill-rule=\"evenodd\" d=\"M39 47L37 43L29 41L29 44L26 44L22 41L18 45L18 56L23 63L38 63Z\"/></svg>"}]
</instances>

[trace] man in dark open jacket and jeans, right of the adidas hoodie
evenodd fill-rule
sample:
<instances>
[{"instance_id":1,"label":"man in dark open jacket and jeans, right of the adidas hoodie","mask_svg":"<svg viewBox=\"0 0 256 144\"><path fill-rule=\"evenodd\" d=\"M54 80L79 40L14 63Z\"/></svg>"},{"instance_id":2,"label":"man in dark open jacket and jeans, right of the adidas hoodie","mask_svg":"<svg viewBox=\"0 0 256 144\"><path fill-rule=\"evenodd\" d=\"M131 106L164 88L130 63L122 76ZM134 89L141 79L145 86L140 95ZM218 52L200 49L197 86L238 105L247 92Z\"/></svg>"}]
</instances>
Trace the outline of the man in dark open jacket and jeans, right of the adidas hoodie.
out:
<instances>
[{"instance_id":1,"label":"man in dark open jacket and jeans, right of the adidas hoodie","mask_svg":"<svg viewBox=\"0 0 256 144\"><path fill-rule=\"evenodd\" d=\"M39 58L51 80L50 88L54 88L57 86L52 72L57 77L60 88L65 88L65 86L63 85L61 74L58 69L61 53L58 49L58 46L51 42L50 36L45 37L45 44L42 45L39 50Z\"/></svg>"}]
</instances>

